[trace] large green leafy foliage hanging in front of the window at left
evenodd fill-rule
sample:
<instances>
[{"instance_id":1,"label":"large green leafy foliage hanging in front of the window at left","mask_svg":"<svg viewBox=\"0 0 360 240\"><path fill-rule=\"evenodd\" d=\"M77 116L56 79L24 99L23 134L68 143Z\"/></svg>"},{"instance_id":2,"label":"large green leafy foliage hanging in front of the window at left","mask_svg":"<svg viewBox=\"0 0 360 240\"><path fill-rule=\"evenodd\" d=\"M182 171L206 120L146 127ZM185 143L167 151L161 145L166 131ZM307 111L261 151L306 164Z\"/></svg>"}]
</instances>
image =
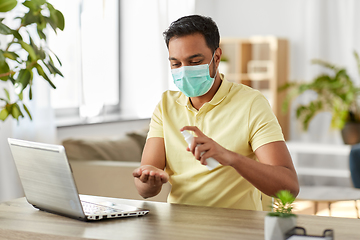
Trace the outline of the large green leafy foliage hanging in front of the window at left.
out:
<instances>
[{"instance_id":1,"label":"large green leafy foliage hanging in front of the window at left","mask_svg":"<svg viewBox=\"0 0 360 240\"><path fill-rule=\"evenodd\" d=\"M17 4L22 4L26 11L14 11ZM46 0L26 0L22 3L17 0L1 0L0 12L12 10L14 13L11 15L18 14L13 20L19 23L16 28L10 28L4 23L4 18L0 18L0 34L9 39L7 43L0 43L0 80L10 81L13 86L11 89L1 90L6 96L0 98L2 121L9 116L19 120L19 117L24 117L24 112L32 119L23 102L23 92L28 91L29 99L32 99L34 74L47 81L54 89L56 87L49 76L63 76L56 67L58 64L61 66L59 58L46 46L45 34L49 29L55 33L57 30L64 30L63 14ZM11 91L14 91L16 99L11 98Z\"/></svg>"}]
</instances>

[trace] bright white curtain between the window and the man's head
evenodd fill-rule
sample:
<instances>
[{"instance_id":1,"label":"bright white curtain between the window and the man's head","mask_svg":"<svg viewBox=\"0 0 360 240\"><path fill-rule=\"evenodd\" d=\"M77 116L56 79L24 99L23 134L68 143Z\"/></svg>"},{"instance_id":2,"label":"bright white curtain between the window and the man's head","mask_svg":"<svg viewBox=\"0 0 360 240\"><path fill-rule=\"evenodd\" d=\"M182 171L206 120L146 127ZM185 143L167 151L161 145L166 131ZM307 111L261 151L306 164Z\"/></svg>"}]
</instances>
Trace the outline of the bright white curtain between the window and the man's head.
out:
<instances>
[{"instance_id":1,"label":"bright white curtain between the window and the man's head","mask_svg":"<svg viewBox=\"0 0 360 240\"><path fill-rule=\"evenodd\" d=\"M121 106L150 117L172 86L162 33L177 18L194 13L195 0L121 1Z\"/></svg>"}]
</instances>

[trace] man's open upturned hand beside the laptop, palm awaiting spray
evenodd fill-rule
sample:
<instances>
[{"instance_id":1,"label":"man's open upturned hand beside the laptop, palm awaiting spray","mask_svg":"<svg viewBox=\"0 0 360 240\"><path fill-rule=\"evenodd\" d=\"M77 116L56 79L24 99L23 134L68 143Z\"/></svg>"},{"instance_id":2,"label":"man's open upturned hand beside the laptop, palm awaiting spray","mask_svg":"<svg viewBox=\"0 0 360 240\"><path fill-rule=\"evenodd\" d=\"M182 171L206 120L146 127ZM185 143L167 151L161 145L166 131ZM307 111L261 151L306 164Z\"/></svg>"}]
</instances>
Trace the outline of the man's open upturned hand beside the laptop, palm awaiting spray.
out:
<instances>
[{"instance_id":1,"label":"man's open upturned hand beside the laptop, palm awaiting spray","mask_svg":"<svg viewBox=\"0 0 360 240\"><path fill-rule=\"evenodd\" d=\"M133 176L149 187L161 187L169 181L169 175L154 166L143 165L134 170Z\"/></svg>"}]
</instances>

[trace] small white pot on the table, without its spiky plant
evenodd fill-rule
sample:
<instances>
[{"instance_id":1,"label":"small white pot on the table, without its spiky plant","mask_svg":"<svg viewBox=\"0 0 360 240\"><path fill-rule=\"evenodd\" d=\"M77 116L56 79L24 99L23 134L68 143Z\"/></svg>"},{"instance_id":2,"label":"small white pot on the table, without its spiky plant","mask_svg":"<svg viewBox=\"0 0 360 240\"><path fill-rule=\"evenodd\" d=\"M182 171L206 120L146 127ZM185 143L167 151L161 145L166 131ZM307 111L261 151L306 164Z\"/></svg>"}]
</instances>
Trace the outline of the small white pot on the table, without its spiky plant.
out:
<instances>
[{"instance_id":1,"label":"small white pot on the table, without its spiky plant","mask_svg":"<svg viewBox=\"0 0 360 240\"><path fill-rule=\"evenodd\" d=\"M285 240L285 233L296 226L296 217L265 216L265 240Z\"/></svg>"}]
</instances>

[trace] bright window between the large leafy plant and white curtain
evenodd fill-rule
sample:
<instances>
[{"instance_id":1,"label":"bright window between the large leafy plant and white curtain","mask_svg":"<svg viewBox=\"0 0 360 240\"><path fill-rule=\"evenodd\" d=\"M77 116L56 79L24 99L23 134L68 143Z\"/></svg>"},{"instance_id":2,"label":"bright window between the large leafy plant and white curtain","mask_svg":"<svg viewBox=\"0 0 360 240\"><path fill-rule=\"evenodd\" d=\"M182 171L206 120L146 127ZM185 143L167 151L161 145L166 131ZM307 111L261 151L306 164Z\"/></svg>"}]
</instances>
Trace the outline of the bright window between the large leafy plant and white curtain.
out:
<instances>
[{"instance_id":1,"label":"bright window between the large leafy plant and white curtain","mask_svg":"<svg viewBox=\"0 0 360 240\"><path fill-rule=\"evenodd\" d=\"M51 93L57 117L94 117L119 111L119 1L53 0L65 29L49 36L62 62Z\"/></svg>"}]
</instances>

